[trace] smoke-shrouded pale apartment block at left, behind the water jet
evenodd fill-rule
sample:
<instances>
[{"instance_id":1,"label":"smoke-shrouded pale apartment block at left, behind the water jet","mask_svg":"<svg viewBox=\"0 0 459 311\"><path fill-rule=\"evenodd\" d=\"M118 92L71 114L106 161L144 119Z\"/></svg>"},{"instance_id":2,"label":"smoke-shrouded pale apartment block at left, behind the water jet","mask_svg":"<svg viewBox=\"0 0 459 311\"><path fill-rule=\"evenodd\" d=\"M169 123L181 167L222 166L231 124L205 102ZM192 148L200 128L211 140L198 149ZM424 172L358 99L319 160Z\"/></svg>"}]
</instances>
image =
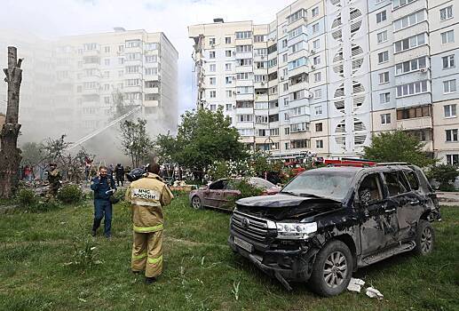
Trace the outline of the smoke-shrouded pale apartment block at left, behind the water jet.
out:
<instances>
[{"instance_id":1,"label":"smoke-shrouded pale apartment block at left, behind the water jet","mask_svg":"<svg viewBox=\"0 0 459 311\"><path fill-rule=\"evenodd\" d=\"M135 110L152 135L178 120L178 52L162 33L113 32L44 41L2 31L0 49L24 57L20 98L23 141L66 133L75 141ZM6 99L6 85L0 87Z\"/></svg>"}]
</instances>

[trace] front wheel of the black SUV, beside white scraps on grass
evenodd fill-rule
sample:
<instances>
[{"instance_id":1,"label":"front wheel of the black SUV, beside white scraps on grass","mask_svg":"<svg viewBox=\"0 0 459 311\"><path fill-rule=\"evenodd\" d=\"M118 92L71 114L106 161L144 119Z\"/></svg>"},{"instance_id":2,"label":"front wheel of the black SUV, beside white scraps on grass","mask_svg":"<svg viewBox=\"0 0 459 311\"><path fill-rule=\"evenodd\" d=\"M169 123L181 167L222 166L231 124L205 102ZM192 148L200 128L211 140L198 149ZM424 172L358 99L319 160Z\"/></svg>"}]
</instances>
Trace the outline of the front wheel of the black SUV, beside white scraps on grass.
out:
<instances>
[{"instance_id":1,"label":"front wheel of the black SUV, beside white scraps on grass","mask_svg":"<svg viewBox=\"0 0 459 311\"><path fill-rule=\"evenodd\" d=\"M349 247L338 240L328 242L314 261L311 289L324 297L340 294L351 281L352 266Z\"/></svg>"}]
</instances>

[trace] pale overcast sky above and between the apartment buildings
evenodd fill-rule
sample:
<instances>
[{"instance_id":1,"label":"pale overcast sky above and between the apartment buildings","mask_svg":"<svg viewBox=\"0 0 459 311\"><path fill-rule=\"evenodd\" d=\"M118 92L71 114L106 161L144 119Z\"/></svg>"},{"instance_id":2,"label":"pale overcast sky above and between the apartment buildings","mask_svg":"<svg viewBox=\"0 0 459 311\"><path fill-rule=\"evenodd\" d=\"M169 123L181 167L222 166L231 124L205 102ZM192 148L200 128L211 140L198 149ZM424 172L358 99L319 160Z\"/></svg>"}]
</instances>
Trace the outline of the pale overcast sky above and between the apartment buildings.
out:
<instances>
[{"instance_id":1,"label":"pale overcast sky above and between the apartment buildings","mask_svg":"<svg viewBox=\"0 0 459 311\"><path fill-rule=\"evenodd\" d=\"M187 26L226 21L273 21L293 0L1 0L1 28L36 36L81 35L114 27L162 31L178 50L179 112L194 108L193 41Z\"/></svg>"}]
</instances>

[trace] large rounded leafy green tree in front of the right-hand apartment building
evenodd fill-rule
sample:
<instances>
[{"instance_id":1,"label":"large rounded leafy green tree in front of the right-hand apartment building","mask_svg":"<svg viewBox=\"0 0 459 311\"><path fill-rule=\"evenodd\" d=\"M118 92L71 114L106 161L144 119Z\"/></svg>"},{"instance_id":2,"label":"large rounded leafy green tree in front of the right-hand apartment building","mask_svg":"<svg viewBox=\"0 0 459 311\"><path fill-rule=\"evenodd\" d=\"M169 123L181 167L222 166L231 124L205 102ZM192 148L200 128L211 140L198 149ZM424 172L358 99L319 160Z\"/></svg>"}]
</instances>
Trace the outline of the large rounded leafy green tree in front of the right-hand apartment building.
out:
<instances>
[{"instance_id":1,"label":"large rounded leafy green tree in front of the right-hand apartment building","mask_svg":"<svg viewBox=\"0 0 459 311\"><path fill-rule=\"evenodd\" d=\"M217 161L237 161L246 158L247 152L239 141L239 132L223 115L223 109L186 111L181 116L178 134L159 135L156 140L162 159L170 159L191 171L207 171Z\"/></svg>"}]
</instances>

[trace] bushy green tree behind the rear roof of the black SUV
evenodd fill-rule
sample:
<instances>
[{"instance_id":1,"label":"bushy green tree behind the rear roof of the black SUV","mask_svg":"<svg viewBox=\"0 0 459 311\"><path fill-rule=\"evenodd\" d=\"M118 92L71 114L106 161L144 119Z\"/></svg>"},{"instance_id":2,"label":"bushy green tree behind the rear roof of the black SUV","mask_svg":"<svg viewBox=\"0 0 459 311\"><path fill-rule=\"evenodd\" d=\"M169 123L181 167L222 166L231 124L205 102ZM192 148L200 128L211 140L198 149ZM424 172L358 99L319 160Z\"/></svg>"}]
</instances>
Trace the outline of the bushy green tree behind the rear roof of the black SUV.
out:
<instances>
[{"instance_id":1,"label":"bushy green tree behind the rear roof of the black SUV","mask_svg":"<svg viewBox=\"0 0 459 311\"><path fill-rule=\"evenodd\" d=\"M364 148L364 156L376 162L408 162L420 167L436 163L423 147L424 143L408 132L382 132L373 135L371 145Z\"/></svg>"}]
</instances>

